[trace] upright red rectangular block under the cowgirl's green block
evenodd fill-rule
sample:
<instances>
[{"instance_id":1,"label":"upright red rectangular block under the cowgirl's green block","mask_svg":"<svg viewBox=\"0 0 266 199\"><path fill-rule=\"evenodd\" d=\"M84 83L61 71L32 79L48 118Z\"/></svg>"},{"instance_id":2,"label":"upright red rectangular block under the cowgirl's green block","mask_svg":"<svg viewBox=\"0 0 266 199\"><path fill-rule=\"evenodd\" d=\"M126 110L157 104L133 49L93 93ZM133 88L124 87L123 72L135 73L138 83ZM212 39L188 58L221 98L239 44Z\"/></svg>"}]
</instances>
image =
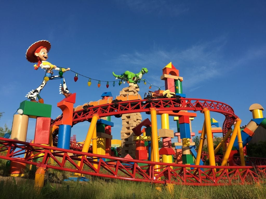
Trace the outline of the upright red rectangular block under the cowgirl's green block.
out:
<instances>
[{"instance_id":1,"label":"upright red rectangular block under the cowgirl's green block","mask_svg":"<svg viewBox=\"0 0 266 199\"><path fill-rule=\"evenodd\" d=\"M34 144L49 144L51 118L36 118Z\"/></svg>"}]
</instances>

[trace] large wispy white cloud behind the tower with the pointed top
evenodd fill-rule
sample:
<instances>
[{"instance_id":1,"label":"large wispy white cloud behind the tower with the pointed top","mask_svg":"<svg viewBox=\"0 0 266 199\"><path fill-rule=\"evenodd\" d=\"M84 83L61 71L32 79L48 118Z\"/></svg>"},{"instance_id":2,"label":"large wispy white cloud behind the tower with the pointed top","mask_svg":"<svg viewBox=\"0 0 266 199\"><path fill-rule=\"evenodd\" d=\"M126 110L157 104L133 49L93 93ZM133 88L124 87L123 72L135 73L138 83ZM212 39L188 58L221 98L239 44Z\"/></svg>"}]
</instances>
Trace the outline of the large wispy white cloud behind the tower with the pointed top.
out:
<instances>
[{"instance_id":1,"label":"large wispy white cloud behind the tower with the pointed top","mask_svg":"<svg viewBox=\"0 0 266 199\"><path fill-rule=\"evenodd\" d=\"M223 59L220 55L225 39L218 39L208 43L198 43L185 50L171 49L163 50L154 47L148 52L135 51L134 53L121 54L115 62L128 67L147 67L150 71L158 70L169 62L182 70L182 75L186 77L186 86L193 87L196 83L206 78L215 77L221 74ZM151 75L151 84L158 81L160 74Z\"/></svg>"}]
</instances>

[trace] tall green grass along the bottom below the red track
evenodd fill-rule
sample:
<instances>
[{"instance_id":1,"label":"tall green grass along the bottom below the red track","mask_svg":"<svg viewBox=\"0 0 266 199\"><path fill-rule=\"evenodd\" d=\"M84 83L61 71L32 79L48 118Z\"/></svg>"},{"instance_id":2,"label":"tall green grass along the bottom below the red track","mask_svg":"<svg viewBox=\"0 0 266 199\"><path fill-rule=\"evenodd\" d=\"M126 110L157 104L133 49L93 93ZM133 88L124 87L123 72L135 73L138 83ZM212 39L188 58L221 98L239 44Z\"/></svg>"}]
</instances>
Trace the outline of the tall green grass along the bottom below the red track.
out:
<instances>
[{"instance_id":1,"label":"tall green grass along the bottom below the red track","mask_svg":"<svg viewBox=\"0 0 266 199\"><path fill-rule=\"evenodd\" d=\"M5 177L7 178L7 177ZM164 185L161 191L155 184L90 177L89 182L47 182L43 188L34 188L34 180L15 178L0 181L1 198L115 198L115 199L169 199L169 198L266 198L265 184L221 187L174 185L170 193Z\"/></svg>"}]
</instances>

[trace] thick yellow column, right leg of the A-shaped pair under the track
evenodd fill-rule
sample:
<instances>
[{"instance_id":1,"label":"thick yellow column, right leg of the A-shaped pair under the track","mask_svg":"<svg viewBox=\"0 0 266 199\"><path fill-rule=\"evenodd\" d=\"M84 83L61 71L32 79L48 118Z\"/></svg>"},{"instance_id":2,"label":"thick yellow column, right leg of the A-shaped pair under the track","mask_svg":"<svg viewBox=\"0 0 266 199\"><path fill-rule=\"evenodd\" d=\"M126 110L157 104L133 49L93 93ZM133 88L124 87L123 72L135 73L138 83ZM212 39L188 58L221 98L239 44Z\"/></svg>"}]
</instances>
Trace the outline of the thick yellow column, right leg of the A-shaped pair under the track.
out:
<instances>
[{"instance_id":1,"label":"thick yellow column, right leg of the A-shaped pair under the track","mask_svg":"<svg viewBox=\"0 0 266 199\"><path fill-rule=\"evenodd\" d=\"M213 137L212 137L212 133L211 133L210 111L208 109L204 108L203 113L204 113L204 117L205 117L205 128L206 128L206 135L207 135L207 145L208 145L210 165L215 166Z\"/></svg>"}]
</instances>

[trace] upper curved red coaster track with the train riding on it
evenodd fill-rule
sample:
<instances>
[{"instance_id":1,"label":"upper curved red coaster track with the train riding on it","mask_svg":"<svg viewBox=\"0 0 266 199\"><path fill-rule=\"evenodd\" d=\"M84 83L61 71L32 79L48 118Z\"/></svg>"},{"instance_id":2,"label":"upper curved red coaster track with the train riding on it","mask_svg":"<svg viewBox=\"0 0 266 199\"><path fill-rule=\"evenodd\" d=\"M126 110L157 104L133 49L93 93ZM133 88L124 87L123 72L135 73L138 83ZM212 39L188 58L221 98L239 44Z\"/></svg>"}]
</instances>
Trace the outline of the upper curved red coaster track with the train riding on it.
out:
<instances>
[{"instance_id":1,"label":"upper curved red coaster track with the train riding on it","mask_svg":"<svg viewBox=\"0 0 266 199\"><path fill-rule=\"evenodd\" d=\"M78 110L73 113L72 125L90 120L94 114L98 114L99 117L105 117L127 113L149 112L150 108L155 108L156 111L202 111L203 108L207 108L210 111L221 113L225 115L225 121L223 123L224 135L231 128L235 119L238 118L232 107L222 102L207 99L181 98L181 103L179 103L175 98L158 98L123 101L89 107L86 111L84 109ZM53 120L51 126L57 125L61 119L62 116Z\"/></svg>"}]
</instances>

